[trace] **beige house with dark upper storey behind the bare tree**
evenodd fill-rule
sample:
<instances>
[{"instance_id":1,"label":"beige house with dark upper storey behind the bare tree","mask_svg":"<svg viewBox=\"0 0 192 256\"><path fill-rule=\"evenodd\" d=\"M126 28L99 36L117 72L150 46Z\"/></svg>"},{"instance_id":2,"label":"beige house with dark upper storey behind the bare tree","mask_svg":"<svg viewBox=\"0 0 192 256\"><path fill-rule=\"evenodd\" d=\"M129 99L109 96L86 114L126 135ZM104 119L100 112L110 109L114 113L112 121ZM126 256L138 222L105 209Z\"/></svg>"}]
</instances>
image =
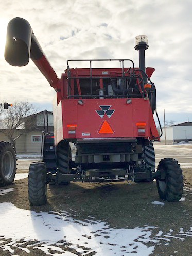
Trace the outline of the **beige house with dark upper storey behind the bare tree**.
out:
<instances>
[{"instance_id":1,"label":"beige house with dark upper storey behind the bare tree","mask_svg":"<svg viewBox=\"0 0 192 256\"><path fill-rule=\"evenodd\" d=\"M48 131L53 133L53 113L47 111ZM9 141L8 137L0 129L0 141ZM24 120L23 126L16 129L14 133L16 152L32 153L41 152L42 131L44 130L44 111L28 116Z\"/></svg>"}]
</instances>

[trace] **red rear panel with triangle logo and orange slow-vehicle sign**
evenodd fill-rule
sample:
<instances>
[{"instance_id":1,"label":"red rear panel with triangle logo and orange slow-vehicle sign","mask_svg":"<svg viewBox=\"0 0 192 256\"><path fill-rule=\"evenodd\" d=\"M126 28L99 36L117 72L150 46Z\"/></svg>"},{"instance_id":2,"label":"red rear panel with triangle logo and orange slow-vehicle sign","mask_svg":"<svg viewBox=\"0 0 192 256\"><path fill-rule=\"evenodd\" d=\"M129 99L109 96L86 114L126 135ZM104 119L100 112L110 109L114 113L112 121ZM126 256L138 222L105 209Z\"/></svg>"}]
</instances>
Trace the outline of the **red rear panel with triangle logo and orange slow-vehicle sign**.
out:
<instances>
[{"instance_id":1,"label":"red rear panel with triangle logo and orange slow-vehicle sign","mask_svg":"<svg viewBox=\"0 0 192 256\"><path fill-rule=\"evenodd\" d=\"M150 136L149 101L144 99L62 100L64 138L138 137L137 123Z\"/></svg>"}]
</instances>

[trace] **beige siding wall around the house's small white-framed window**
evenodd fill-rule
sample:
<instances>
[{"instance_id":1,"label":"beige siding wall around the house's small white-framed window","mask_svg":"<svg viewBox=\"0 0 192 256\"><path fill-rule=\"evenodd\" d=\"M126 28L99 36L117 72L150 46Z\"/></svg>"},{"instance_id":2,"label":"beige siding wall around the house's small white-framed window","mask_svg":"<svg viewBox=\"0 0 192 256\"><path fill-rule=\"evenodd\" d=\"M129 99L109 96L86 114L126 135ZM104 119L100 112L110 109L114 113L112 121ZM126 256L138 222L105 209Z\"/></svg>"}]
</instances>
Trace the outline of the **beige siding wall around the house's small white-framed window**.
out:
<instances>
[{"instance_id":1,"label":"beige siding wall around the house's small white-framed window","mask_svg":"<svg viewBox=\"0 0 192 256\"><path fill-rule=\"evenodd\" d=\"M32 131L27 133L26 135L26 151L30 152L41 152L41 142L32 142L32 135L37 136L40 135L42 137L42 132L39 130Z\"/></svg>"}]
</instances>

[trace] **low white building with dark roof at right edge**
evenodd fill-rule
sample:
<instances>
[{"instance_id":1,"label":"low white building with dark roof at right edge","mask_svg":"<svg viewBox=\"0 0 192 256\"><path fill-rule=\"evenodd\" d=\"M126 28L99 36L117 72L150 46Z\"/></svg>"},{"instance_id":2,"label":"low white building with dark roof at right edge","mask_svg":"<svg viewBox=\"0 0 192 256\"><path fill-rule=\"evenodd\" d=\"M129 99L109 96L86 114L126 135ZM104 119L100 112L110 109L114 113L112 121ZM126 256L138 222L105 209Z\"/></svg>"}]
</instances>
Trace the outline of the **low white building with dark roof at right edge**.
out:
<instances>
[{"instance_id":1,"label":"low white building with dark roof at right edge","mask_svg":"<svg viewBox=\"0 0 192 256\"><path fill-rule=\"evenodd\" d=\"M192 122L176 123L170 126L162 127L163 135L161 137L161 142L165 143L179 143L181 141L188 142L192 139Z\"/></svg>"}]
</instances>

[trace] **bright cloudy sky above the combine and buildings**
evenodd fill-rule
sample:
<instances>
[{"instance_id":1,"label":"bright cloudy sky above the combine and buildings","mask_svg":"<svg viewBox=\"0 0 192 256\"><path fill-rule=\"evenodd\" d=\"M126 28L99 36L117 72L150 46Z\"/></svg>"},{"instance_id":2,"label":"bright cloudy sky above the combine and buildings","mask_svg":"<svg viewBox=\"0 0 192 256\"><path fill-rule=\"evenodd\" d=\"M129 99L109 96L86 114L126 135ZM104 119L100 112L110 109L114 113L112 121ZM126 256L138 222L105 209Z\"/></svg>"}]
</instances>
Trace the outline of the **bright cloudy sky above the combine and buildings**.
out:
<instances>
[{"instance_id":1,"label":"bright cloudy sky above the combine and buildings","mask_svg":"<svg viewBox=\"0 0 192 256\"><path fill-rule=\"evenodd\" d=\"M55 91L30 60L11 67L4 59L8 22L26 19L58 77L68 59L132 59L137 35L147 35L146 66L156 70L158 113L192 122L191 0L7 0L0 3L1 99L28 100L51 110Z\"/></svg>"}]
</instances>

